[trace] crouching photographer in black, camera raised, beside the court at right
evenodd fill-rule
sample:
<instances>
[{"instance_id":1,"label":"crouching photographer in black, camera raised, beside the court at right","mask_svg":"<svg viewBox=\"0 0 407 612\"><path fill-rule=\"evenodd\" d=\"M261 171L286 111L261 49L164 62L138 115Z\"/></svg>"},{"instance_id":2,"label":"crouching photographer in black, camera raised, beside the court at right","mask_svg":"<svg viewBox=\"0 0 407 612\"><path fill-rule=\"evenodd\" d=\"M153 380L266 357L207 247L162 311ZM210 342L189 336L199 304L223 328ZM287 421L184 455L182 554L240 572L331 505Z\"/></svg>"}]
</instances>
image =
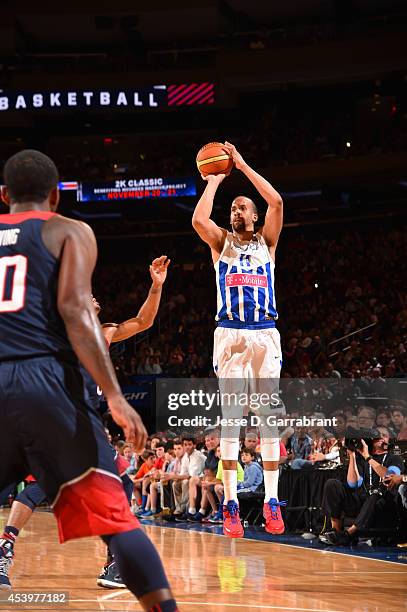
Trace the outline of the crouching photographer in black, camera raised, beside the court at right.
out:
<instances>
[{"instance_id":1,"label":"crouching photographer in black, camera raised, beside the court at right","mask_svg":"<svg viewBox=\"0 0 407 612\"><path fill-rule=\"evenodd\" d=\"M357 543L358 531L371 526L375 518L383 522L389 515L396 516L396 494L383 480L387 475L404 472L404 463L388 452L388 432L371 430L367 433L364 438L346 440L347 482L330 479L325 483L322 509L331 519L332 530L319 536L324 544L348 546ZM346 529L342 529L343 516L355 517Z\"/></svg>"}]
</instances>

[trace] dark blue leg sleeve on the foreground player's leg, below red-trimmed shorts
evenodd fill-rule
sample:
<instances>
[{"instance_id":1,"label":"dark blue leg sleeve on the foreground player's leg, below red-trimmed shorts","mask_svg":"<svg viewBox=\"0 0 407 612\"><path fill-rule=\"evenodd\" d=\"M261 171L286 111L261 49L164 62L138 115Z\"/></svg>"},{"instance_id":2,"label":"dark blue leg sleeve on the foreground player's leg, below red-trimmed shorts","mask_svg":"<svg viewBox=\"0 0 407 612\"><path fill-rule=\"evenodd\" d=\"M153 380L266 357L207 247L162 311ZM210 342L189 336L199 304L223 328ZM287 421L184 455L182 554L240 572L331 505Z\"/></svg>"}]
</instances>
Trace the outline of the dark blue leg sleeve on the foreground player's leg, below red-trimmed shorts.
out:
<instances>
[{"instance_id":1,"label":"dark blue leg sleeve on the foreground player's leg, below red-trimmed shorts","mask_svg":"<svg viewBox=\"0 0 407 612\"><path fill-rule=\"evenodd\" d=\"M159 589L169 589L161 559L141 529L102 536L114 555L120 576L138 598Z\"/></svg>"}]
</instances>

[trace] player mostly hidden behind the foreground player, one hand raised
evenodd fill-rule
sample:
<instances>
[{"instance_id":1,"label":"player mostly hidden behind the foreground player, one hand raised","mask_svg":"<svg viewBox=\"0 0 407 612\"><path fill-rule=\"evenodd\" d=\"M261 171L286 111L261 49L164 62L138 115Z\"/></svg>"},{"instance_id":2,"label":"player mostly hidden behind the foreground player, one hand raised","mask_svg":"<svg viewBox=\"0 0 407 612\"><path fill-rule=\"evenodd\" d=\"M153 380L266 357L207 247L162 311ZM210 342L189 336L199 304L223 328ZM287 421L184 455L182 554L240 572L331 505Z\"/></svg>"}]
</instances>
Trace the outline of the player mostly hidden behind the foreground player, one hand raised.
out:
<instances>
[{"instance_id":1,"label":"player mostly hidden behind the foreground player, one hand raised","mask_svg":"<svg viewBox=\"0 0 407 612\"><path fill-rule=\"evenodd\" d=\"M148 297L143 306L140 308L136 317L128 319L120 324L105 323L102 325L102 332L107 346L110 346L110 344L114 342L128 340L136 334L149 329L153 325L160 305L161 290L167 277L167 269L169 264L170 260L162 255L161 257L154 259L150 265L149 270L152 285ZM100 304L95 298L92 298L92 301L96 314L99 315L101 311ZM86 391L89 395L92 407L96 411L99 411L101 390L83 367L81 367L81 371L85 380ZM133 482L125 472L128 464L122 466L120 462L121 456L114 450L113 447L111 447L111 451L119 472L119 476L122 479L127 499L130 503L133 492ZM0 537L0 589L11 588L8 571L13 562L14 544L19 532L27 524L35 508L47 501L47 496L39 484L35 482L35 479L30 476L28 480L29 484L21 493L17 495L11 506L4 533ZM111 553L109 548L107 552L106 564L102 573L98 577L97 584L107 588L126 587L120 576L117 563L114 561L114 555Z\"/></svg>"}]
</instances>

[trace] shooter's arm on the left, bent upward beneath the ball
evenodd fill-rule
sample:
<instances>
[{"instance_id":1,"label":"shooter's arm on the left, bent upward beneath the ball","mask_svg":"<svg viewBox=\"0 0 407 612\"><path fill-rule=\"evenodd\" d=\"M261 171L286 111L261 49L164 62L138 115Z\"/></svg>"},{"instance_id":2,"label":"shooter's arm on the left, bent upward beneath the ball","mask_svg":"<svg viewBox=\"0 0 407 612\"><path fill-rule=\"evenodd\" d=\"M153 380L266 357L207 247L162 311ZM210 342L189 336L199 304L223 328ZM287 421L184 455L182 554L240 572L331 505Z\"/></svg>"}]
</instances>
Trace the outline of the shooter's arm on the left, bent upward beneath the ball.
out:
<instances>
[{"instance_id":1,"label":"shooter's arm on the left, bent upward beneath the ball","mask_svg":"<svg viewBox=\"0 0 407 612\"><path fill-rule=\"evenodd\" d=\"M211 247L212 251L219 255L222 252L227 232L212 221L211 214L215 194L225 178L225 174L217 174L216 176L208 174L202 178L208 184L192 215L192 227L199 237Z\"/></svg>"}]
</instances>

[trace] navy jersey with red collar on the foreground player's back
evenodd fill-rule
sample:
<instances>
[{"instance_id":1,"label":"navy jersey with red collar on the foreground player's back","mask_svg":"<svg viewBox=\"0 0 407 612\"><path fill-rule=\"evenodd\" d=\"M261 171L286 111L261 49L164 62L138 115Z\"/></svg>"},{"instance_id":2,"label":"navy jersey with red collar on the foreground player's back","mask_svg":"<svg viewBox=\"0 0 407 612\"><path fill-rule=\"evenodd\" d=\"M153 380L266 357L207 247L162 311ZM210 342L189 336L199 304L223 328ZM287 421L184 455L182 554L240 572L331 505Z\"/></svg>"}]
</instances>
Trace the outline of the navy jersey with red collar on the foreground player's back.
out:
<instances>
[{"instance_id":1,"label":"navy jersey with red collar on the foreground player's back","mask_svg":"<svg viewBox=\"0 0 407 612\"><path fill-rule=\"evenodd\" d=\"M54 355L77 363L57 309L59 261L41 236L54 214L0 215L0 362Z\"/></svg>"}]
</instances>

